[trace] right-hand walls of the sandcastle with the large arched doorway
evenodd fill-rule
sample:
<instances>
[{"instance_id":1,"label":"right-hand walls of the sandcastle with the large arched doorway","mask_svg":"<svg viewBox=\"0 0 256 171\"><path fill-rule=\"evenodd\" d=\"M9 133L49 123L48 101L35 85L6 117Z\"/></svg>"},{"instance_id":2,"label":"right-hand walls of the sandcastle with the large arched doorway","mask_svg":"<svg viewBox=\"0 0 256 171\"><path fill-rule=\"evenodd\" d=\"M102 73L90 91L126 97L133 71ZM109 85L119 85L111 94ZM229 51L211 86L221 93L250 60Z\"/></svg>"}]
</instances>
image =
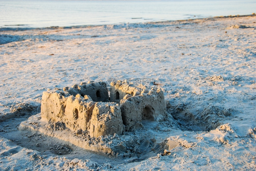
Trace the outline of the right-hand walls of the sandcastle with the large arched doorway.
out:
<instances>
[{"instance_id":1,"label":"right-hand walls of the sandcastle with the large arched doorway","mask_svg":"<svg viewBox=\"0 0 256 171\"><path fill-rule=\"evenodd\" d=\"M126 81L110 84L110 101L119 103L125 131L141 127L142 120L163 121L166 117L166 103L162 90L151 89L140 84L132 87Z\"/></svg>"}]
</instances>

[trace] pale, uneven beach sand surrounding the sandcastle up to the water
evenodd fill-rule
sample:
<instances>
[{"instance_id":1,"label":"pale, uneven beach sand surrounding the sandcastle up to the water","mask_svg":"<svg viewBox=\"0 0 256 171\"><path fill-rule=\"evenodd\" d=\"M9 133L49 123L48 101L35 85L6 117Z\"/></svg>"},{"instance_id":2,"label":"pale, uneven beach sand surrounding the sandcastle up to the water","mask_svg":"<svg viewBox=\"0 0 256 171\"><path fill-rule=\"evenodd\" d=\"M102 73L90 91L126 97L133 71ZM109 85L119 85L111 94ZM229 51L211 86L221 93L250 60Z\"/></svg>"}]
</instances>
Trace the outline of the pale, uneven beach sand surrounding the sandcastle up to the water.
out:
<instances>
[{"instance_id":1,"label":"pale, uneven beach sand surrounding the sandcastle up to the water","mask_svg":"<svg viewBox=\"0 0 256 171\"><path fill-rule=\"evenodd\" d=\"M255 170L255 21L248 15L1 29L1 170ZM93 139L132 144L119 149L122 155L18 130L40 114L48 88L113 79L159 87L167 101L165 121Z\"/></svg>"}]
</instances>

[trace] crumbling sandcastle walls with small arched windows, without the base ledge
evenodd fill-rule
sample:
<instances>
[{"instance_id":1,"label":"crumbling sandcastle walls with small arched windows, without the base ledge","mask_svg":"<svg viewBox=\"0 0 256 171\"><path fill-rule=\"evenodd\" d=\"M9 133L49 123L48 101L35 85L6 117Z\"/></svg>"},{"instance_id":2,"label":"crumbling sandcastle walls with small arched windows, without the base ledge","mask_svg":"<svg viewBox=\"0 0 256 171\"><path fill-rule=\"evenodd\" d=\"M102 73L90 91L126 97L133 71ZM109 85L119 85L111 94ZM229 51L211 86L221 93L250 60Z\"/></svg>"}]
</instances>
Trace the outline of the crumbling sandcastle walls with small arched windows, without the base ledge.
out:
<instances>
[{"instance_id":1,"label":"crumbling sandcastle walls with small arched windows, without the base ledge","mask_svg":"<svg viewBox=\"0 0 256 171\"><path fill-rule=\"evenodd\" d=\"M126 81L81 83L43 92L42 120L63 122L72 131L88 131L90 137L123 134L142 127L143 120L163 121L166 117L164 93L160 88Z\"/></svg>"}]
</instances>

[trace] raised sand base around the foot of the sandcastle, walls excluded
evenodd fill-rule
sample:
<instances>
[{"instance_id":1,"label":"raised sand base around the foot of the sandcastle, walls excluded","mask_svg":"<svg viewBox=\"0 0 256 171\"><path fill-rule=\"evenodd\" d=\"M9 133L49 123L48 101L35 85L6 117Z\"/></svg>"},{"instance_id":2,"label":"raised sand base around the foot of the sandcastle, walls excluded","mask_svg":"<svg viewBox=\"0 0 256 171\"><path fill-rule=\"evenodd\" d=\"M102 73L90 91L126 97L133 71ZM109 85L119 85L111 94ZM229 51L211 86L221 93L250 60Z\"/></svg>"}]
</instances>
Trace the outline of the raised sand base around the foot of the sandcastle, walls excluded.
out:
<instances>
[{"instance_id":1,"label":"raised sand base around the foot of the sandcastle, walls excluded","mask_svg":"<svg viewBox=\"0 0 256 171\"><path fill-rule=\"evenodd\" d=\"M145 120L143 121L143 128L126 132L124 135L114 134L90 137L89 132L72 131L61 122L45 122L41 119L41 114L39 113L21 122L18 130L30 131L32 134L54 138L63 146L73 149L79 147L101 155L121 156L133 161L139 160L141 157L144 159L145 155L151 154L154 156L156 153L164 153L166 138L171 134L169 132L171 127L170 121L157 122ZM152 134L156 130L158 132L165 132L166 136L158 137L160 134Z\"/></svg>"}]
</instances>

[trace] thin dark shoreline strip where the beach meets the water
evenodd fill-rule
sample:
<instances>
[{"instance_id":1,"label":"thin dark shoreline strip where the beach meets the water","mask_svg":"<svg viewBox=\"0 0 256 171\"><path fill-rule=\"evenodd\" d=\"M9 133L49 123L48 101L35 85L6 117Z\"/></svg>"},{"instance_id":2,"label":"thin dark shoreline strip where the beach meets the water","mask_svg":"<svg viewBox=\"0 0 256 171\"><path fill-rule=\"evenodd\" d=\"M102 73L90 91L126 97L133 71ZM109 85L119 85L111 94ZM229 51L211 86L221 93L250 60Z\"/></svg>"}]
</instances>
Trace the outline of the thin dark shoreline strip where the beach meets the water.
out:
<instances>
[{"instance_id":1,"label":"thin dark shoreline strip where the beach meets the water","mask_svg":"<svg viewBox=\"0 0 256 171\"><path fill-rule=\"evenodd\" d=\"M124 26L127 24L131 25L141 25L141 24L154 24L154 23L168 23L168 22L175 22L175 21L193 21L198 19L208 19L212 20L215 18L235 18L235 17L248 17L248 16L255 16L255 13L249 15L228 15L228 16L215 16L215 17L203 17L203 18L192 18L192 19L185 19L185 20L167 20L167 21L155 21L155 22L143 22L143 23L120 23L120 24L107 24L107 25L79 25L79 26L51 26L51 27L1 27L0 32L5 31L26 31L26 30L45 30L45 29L78 29L78 28L93 28L93 27L102 27L102 26Z\"/></svg>"}]
</instances>

